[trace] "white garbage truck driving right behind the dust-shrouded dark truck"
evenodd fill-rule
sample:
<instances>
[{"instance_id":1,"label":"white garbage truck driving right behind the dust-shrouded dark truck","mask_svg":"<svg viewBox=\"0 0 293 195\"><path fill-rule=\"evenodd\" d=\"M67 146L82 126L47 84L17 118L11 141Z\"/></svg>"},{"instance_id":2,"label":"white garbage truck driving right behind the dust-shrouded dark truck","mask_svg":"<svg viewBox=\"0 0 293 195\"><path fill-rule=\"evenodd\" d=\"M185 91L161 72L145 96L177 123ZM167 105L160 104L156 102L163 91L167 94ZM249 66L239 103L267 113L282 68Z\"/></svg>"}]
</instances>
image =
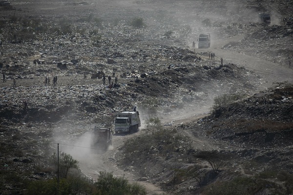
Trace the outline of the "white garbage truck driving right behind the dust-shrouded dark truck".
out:
<instances>
[{"instance_id":1,"label":"white garbage truck driving right behind the dust-shrouded dark truck","mask_svg":"<svg viewBox=\"0 0 293 195\"><path fill-rule=\"evenodd\" d=\"M138 131L141 126L138 111L117 113L115 118L115 133Z\"/></svg>"}]
</instances>

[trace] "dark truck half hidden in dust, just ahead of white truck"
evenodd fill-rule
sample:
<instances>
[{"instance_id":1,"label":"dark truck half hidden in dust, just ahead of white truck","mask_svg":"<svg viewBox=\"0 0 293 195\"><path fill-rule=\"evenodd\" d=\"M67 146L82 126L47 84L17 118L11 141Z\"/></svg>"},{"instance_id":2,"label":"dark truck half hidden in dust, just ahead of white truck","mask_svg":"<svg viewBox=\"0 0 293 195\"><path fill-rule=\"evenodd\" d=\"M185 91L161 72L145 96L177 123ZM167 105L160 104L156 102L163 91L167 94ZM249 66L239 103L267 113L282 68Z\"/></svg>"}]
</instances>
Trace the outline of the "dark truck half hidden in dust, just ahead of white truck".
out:
<instances>
[{"instance_id":1,"label":"dark truck half hidden in dust, just ahead of white truck","mask_svg":"<svg viewBox=\"0 0 293 195\"><path fill-rule=\"evenodd\" d=\"M106 150L112 145L112 131L110 128L97 128L92 130L92 147Z\"/></svg>"}]
</instances>

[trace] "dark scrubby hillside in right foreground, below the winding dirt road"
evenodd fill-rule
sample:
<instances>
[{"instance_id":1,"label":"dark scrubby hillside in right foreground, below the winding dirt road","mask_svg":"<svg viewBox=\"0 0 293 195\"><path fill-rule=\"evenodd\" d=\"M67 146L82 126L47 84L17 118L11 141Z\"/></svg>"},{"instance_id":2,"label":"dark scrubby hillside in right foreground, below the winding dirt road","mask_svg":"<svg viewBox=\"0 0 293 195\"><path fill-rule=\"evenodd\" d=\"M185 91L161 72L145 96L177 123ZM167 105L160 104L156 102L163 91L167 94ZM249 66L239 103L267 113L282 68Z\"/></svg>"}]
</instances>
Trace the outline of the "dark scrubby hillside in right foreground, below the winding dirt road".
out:
<instances>
[{"instance_id":1,"label":"dark scrubby hillside in right foreground, below the winding dirt road","mask_svg":"<svg viewBox=\"0 0 293 195\"><path fill-rule=\"evenodd\" d=\"M292 83L278 83L195 122L128 139L119 163L170 194L290 193L292 118Z\"/></svg>"}]
</instances>

